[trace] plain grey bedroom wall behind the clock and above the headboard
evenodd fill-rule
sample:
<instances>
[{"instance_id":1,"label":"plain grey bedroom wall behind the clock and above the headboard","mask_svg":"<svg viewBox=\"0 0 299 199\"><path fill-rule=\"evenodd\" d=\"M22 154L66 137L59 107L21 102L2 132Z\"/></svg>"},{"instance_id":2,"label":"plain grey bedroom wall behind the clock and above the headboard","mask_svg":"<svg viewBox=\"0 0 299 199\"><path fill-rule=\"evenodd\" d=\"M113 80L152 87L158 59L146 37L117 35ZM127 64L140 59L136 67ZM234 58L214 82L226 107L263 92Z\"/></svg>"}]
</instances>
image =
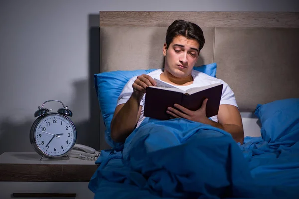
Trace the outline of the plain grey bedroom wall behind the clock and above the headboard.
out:
<instances>
[{"instance_id":1,"label":"plain grey bedroom wall behind the clock and above the headboard","mask_svg":"<svg viewBox=\"0 0 299 199\"><path fill-rule=\"evenodd\" d=\"M100 149L99 106L93 88L98 73L99 11L284 11L297 0L1 0L0 154L33 151L29 130L46 100L73 111L77 143ZM49 103L56 111L58 103ZM244 113L244 125L255 119ZM250 127L249 127L250 128ZM257 129L251 129L253 133ZM101 149L103 148L101 147Z\"/></svg>"}]
</instances>

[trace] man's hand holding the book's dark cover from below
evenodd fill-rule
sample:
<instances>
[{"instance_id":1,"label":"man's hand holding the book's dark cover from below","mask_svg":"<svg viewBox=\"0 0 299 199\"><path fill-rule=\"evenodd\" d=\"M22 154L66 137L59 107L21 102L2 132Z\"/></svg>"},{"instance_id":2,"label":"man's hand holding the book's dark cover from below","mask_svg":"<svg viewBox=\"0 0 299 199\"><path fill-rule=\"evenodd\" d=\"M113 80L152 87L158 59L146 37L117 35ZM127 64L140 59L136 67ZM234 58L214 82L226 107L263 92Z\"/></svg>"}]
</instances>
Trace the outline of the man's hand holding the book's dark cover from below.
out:
<instances>
[{"instance_id":1,"label":"man's hand holding the book's dark cover from below","mask_svg":"<svg viewBox=\"0 0 299 199\"><path fill-rule=\"evenodd\" d=\"M206 123L207 119L209 119L206 116L207 101L208 99L203 100L201 107L196 111L192 111L181 105L174 104L174 107L180 111L176 110L175 108L168 107L167 114L171 115L170 118L185 118L191 121Z\"/></svg>"}]
</instances>

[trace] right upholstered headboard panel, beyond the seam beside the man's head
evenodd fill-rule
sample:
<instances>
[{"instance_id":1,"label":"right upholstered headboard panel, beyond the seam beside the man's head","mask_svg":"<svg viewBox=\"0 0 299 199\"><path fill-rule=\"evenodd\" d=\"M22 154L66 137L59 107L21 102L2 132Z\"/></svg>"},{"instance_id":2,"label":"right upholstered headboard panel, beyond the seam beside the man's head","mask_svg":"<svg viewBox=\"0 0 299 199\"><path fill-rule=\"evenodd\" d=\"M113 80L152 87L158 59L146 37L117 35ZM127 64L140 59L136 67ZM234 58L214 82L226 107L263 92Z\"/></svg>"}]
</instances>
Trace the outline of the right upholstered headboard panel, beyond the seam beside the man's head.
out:
<instances>
[{"instance_id":1,"label":"right upholstered headboard panel, beyond the seam beside the man's head","mask_svg":"<svg viewBox=\"0 0 299 199\"><path fill-rule=\"evenodd\" d=\"M241 112L299 98L299 28L216 28L217 77L230 85Z\"/></svg>"}]
</instances>

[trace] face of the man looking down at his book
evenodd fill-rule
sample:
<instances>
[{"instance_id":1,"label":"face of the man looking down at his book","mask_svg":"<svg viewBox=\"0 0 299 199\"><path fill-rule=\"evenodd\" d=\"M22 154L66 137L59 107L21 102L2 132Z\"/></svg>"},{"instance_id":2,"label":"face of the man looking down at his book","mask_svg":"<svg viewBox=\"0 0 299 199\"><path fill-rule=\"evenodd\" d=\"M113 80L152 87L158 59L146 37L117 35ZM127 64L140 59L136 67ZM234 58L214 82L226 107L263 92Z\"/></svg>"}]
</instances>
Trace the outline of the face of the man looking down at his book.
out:
<instances>
[{"instance_id":1,"label":"face of the man looking down at his book","mask_svg":"<svg viewBox=\"0 0 299 199\"><path fill-rule=\"evenodd\" d=\"M190 75L198 60L199 43L179 35L174 37L167 51L166 49L165 43L163 48L165 70L178 78Z\"/></svg>"}]
</instances>

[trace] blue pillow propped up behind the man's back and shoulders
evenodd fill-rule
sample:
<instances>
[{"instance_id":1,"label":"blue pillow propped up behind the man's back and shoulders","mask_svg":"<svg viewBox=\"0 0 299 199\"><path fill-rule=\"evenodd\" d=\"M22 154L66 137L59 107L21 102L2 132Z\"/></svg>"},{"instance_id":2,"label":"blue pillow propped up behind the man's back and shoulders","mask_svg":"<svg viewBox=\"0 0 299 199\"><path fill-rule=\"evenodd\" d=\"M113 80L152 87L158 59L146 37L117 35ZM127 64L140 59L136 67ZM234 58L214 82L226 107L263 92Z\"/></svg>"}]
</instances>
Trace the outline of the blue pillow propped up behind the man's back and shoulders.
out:
<instances>
[{"instance_id":1,"label":"blue pillow propped up behind the man's back and shoulders","mask_svg":"<svg viewBox=\"0 0 299 199\"><path fill-rule=\"evenodd\" d=\"M207 64L202 66L194 66L194 70L206 73L212 77L216 77L217 64ZM117 104L117 99L121 94L125 84L134 76L147 74L157 69L133 70L133 71L109 71L94 74L95 89L106 127L105 140L111 147L119 146L119 143L112 141L110 137L110 123Z\"/></svg>"}]
</instances>

